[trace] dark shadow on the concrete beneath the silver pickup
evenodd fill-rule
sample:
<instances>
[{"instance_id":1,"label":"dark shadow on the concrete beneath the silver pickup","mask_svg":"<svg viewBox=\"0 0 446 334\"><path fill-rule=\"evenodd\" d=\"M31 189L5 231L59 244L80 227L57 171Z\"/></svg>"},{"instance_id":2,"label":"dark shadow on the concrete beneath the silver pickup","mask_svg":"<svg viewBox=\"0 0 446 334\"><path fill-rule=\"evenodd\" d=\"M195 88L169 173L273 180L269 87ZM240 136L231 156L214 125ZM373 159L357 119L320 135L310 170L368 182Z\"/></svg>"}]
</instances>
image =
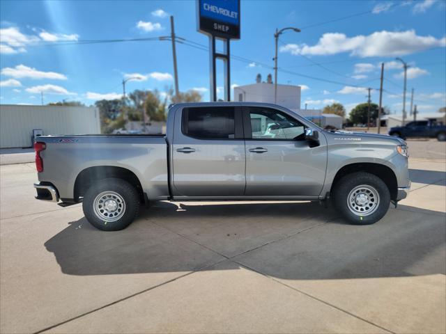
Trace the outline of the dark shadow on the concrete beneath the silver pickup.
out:
<instances>
[{"instance_id":1,"label":"dark shadow on the concrete beneath the silver pickup","mask_svg":"<svg viewBox=\"0 0 446 334\"><path fill-rule=\"evenodd\" d=\"M230 258L277 278L318 280L445 273L445 234L443 213L414 207L356 226L311 202L159 202L118 232L70 222L45 247L70 275L212 270Z\"/></svg>"}]
</instances>

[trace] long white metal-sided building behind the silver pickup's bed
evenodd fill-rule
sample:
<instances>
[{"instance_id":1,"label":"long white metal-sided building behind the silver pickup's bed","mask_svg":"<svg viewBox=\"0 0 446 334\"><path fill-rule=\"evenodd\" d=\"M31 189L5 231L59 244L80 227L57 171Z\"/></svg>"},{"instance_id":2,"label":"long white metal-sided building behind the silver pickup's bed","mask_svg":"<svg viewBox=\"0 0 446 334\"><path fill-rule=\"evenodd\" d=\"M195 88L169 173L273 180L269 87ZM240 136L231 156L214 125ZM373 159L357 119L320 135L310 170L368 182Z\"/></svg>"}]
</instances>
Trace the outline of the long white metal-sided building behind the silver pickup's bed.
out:
<instances>
[{"instance_id":1,"label":"long white metal-sided building behind the silver pickup's bed","mask_svg":"<svg viewBox=\"0 0 446 334\"><path fill-rule=\"evenodd\" d=\"M0 104L0 148L31 146L33 129L43 134L100 134L99 111L86 106Z\"/></svg>"}]
</instances>

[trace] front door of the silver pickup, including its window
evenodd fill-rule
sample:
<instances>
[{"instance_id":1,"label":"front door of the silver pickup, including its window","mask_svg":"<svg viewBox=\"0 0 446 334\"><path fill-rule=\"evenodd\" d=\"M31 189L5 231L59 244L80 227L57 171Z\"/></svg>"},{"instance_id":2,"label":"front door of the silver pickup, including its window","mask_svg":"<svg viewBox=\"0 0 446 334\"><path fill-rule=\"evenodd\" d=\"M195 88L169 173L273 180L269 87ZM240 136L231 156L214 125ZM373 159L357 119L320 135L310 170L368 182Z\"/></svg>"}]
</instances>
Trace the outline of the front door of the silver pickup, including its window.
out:
<instances>
[{"instance_id":1,"label":"front door of the silver pickup, including its window","mask_svg":"<svg viewBox=\"0 0 446 334\"><path fill-rule=\"evenodd\" d=\"M317 147L305 126L271 108L243 107L246 148L245 196L318 196L327 166L323 135Z\"/></svg>"}]
</instances>

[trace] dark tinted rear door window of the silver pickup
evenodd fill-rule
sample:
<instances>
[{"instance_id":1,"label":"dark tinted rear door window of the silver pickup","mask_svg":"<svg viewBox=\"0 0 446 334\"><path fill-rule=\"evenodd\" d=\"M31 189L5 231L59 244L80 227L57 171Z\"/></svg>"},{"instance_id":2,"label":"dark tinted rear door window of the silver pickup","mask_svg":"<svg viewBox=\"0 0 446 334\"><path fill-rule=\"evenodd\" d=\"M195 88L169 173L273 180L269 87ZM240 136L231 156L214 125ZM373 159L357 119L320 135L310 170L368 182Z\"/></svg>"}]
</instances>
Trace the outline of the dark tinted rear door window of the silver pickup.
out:
<instances>
[{"instance_id":1,"label":"dark tinted rear door window of the silver pickup","mask_svg":"<svg viewBox=\"0 0 446 334\"><path fill-rule=\"evenodd\" d=\"M203 139L235 138L231 107L188 108L183 111L183 133Z\"/></svg>"}]
</instances>

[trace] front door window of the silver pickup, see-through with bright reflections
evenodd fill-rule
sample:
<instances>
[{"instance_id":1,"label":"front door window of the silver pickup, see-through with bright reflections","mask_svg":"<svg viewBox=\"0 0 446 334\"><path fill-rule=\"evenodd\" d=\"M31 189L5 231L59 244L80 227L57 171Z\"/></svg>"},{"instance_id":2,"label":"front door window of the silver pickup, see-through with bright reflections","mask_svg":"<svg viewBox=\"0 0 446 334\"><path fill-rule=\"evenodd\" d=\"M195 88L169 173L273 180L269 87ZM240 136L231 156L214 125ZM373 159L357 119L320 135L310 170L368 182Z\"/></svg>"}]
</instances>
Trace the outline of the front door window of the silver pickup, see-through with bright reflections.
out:
<instances>
[{"instance_id":1,"label":"front door window of the silver pickup, see-through with bright reflections","mask_svg":"<svg viewBox=\"0 0 446 334\"><path fill-rule=\"evenodd\" d=\"M305 127L301 122L274 109L250 108L253 139L303 138Z\"/></svg>"}]
</instances>

